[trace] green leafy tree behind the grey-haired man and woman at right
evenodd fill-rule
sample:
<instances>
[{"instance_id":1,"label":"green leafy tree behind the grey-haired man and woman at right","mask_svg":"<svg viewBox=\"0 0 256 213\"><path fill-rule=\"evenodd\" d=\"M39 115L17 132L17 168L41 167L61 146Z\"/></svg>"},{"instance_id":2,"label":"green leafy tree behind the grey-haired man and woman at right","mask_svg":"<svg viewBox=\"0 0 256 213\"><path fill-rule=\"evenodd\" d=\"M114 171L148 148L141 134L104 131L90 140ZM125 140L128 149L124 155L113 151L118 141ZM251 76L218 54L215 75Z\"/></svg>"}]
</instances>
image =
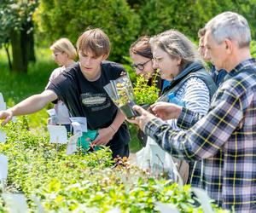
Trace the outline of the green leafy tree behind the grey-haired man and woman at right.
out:
<instances>
[{"instance_id":1,"label":"green leafy tree behind the grey-haired man and woman at right","mask_svg":"<svg viewBox=\"0 0 256 213\"><path fill-rule=\"evenodd\" d=\"M141 34L154 35L168 29L177 29L197 40L198 30L217 14L233 11L244 15L251 26L256 23L256 1L241 0L149 0L139 13ZM255 38L255 30L252 28Z\"/></svg>"}]
</instances>

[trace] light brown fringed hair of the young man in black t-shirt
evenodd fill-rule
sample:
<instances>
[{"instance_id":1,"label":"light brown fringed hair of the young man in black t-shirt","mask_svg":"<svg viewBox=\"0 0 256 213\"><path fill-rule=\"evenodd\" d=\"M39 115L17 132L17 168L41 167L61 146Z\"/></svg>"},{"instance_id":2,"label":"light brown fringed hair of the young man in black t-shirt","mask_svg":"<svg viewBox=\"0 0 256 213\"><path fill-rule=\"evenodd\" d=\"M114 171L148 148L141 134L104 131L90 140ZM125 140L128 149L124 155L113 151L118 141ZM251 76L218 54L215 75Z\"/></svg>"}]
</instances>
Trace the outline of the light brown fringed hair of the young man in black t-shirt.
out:
<instances>
[{"instance_id":1,"label":"light brown fringed hair of the young man in black t-shirt","mask_svg":"<svg viewBox=\"0 0 256 213\"><path fill-rule=\"evenodd\" d=\"M95 56L109 55L110 41L100 28L85 31L77 41L79 51L91 51Z\"/></svg>"}]
</instances>

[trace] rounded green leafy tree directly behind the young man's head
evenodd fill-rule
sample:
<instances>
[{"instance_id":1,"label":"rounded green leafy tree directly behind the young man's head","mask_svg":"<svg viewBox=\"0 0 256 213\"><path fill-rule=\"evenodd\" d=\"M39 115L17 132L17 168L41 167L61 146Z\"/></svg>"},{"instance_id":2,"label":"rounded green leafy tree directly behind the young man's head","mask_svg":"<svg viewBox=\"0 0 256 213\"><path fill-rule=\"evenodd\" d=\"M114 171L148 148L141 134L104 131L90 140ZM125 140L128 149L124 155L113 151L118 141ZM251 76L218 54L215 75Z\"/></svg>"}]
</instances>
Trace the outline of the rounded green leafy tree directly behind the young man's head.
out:
<instances>
[{"instance_id":1,"label":"rounded green leafy tree directly behind the young man's head","mask_svg":"<svg viewBox=\"0 0 256 213\"><path fill-rule=\"evenodd\" d=\"M100 27L112 43L111 60L122 61L140 29L140 19L125 0L42 0L36 14L50 43L68 37L75 43L88 26Z\"/></svg>"}]
</instances>

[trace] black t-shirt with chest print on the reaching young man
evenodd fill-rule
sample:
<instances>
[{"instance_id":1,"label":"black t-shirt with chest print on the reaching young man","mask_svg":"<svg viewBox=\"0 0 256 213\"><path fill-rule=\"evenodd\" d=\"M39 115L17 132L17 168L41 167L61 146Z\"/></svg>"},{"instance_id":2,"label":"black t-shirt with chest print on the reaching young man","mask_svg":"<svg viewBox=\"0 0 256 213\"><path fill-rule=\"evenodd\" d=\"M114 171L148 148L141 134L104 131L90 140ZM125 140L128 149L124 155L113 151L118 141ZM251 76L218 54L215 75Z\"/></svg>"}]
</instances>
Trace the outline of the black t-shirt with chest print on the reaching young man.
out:
<instances>
[{"instance_id":1,"label":"black t-shirt with chest print on the reaching young man","mask_svg":"<svg viewBox=\"0 0 256 213\"><path fill-rule=\"evenodd\" d=\"M113 104L103 87L110 80L119 78L124 71L124 67L117 63L102 61L101 77L90 82L84 78L79 63L75 63L55 78L47 89L55 92L73 117L86 117L88 128L98 130L112 124L118 112L118 107ZM130 135L124 123L110 142L122 145L129 141Z\"/></svg>"}]
</instances>

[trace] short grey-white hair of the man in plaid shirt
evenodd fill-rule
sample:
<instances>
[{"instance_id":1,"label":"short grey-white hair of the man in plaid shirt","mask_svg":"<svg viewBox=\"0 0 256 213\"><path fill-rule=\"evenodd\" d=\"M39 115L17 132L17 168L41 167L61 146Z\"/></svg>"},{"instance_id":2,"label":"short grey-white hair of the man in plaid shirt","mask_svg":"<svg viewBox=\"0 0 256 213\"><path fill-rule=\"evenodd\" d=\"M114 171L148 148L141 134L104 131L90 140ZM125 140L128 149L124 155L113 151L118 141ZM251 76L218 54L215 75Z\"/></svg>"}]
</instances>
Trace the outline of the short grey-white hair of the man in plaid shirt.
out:
<instances>
[{"instance_id":1,"label":"short grey-white hair of the man in plaid shirt","mask_svg":"<svg viewBox=\"0 0 256 213\"><path fill-rule=\"evenodd\" d=\"M239 48L250 46L252 39L250 27L241 14L233 12L218 14L209 20L205 27L218 44L228 38L231 41L236 41Z\"/></svg>"}]
</instances>

